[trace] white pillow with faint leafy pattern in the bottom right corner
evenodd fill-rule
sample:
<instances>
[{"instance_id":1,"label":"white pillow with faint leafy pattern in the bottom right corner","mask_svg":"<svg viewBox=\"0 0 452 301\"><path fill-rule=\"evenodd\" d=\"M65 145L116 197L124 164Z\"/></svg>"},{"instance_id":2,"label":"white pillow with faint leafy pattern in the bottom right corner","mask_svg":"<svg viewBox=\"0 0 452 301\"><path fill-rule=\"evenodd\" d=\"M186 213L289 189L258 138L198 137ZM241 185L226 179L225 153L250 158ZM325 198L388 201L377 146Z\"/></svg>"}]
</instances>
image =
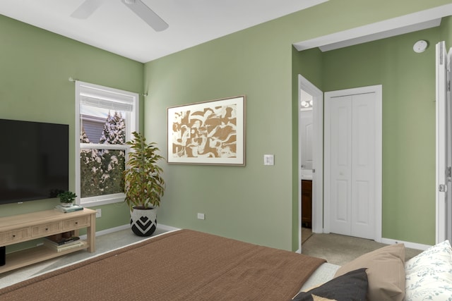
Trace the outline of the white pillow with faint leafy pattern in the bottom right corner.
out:
<instances>
[{"instance_id":1,"label":"white pillow with faint leafy pattern in the bottom right corner","mask_svg":"<svg viewBox=\"0 0 452 301\"><path fill-rule=\"evenodd\" d=\"M405 300L451 300L452 248L440 242L405 262Z\"/></svg>"}]
</instances>

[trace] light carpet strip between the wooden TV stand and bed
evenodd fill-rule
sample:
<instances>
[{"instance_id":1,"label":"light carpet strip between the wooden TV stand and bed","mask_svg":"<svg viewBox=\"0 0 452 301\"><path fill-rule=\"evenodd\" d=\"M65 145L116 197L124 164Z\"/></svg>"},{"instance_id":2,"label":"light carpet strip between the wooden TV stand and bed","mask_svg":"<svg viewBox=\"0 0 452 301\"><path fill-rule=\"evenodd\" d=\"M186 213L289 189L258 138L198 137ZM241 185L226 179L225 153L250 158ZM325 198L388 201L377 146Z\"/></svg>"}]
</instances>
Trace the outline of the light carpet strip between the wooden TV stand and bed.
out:
<instances>
[{"instance_id":1,"label":"light carpet strip between the wooden TV stand and bed","mask_svg":"<svg viewBox=\"0 0 452 301\"><path fill-rule=\"evenodd\" d=\"M157 229L155 230L151 237L154 237L165 232L167 231L157 227ZM74 262L78 262L84 259L88 259L90 257L98 256L105 252L116 250L119 247L124 247L126 245L139 242L143 239L146 238L133 234L130 228L126 230L117 231L114 233L96 236L95 252L93 253L90 253L88 251L74 252L71 254L67 254L66 256L57 257L55 259L50 259L45 262L33 264L31 266L25 266L21 269L5 272L3 274L0 274L0 288L4 288L14 283L27 280L44 272L52 271L53 269L59 269L62 266L73 264Z\"/></svg>"}]
</instances>

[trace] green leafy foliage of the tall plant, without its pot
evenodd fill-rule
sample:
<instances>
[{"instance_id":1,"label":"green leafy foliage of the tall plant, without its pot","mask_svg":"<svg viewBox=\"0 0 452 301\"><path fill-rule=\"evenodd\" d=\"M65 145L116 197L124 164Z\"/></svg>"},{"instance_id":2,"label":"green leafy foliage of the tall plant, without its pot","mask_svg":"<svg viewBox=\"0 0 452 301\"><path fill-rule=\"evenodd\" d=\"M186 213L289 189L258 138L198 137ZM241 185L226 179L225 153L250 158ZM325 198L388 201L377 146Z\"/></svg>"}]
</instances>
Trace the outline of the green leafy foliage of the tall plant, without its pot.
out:
<instances>
[{"instance_id":1,"label":"green leafy foliage of the tall plant, without its pot","mask_svg":"<svg viewBox=\"0 0 452 301\"><path fill-rule=\"evenodd\" d=\"M160 206L160 198L165 192L165 181L157 161L163 159L157 154L160 149L155 142L146 143L145 137L133 132L133 139L127 142L131 146L128 168L124 171L125 202L131 210L150 209Z\"/></svg>"}]
</instances>

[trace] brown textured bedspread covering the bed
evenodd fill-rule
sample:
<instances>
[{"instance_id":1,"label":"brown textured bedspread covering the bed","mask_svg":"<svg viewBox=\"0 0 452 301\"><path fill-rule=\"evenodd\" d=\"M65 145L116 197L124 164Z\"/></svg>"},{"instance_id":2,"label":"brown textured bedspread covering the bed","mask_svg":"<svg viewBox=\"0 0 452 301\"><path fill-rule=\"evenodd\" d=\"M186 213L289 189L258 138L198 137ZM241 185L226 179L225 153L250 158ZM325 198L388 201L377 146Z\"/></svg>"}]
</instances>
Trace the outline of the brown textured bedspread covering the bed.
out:
<instances>
[{"instance_id":1,"label":"brown textured bedspread covering the bed","mask_svg":"<svg viewBox=\"0 0 452 301\"><path fill-rule=\"evenodd\" d=\"M290 300L325 260L166 233L0 290L0 300Z\"/></svg>"}]
</instances>

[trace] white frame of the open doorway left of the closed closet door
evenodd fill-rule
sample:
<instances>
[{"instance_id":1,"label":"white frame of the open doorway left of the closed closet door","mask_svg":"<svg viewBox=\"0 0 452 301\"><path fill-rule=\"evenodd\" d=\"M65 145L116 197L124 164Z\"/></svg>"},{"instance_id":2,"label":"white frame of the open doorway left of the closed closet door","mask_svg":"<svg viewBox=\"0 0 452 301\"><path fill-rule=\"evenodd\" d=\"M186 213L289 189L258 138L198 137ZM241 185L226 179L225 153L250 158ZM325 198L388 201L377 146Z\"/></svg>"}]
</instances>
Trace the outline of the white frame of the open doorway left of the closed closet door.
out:
<instances>
[{"instance_id":1,"label":"white frame of the open doorway left of the closed closet door","mask_svg":"<svg viewBox=\"0 0 452 301\"><path fill-rule=\"evenodd\" d=\"M323 92L302 75L298 75L298 132L301 130L301 98L300 90L312 95L313 106L313 140L312 156L315 172L312 174L312 232L323 232ZM298 228L299 238L302 235L302 147L301 139L298 139ZM299 250L302 250L302 241L299 240Z\"/></svg>"}]
</instances>

